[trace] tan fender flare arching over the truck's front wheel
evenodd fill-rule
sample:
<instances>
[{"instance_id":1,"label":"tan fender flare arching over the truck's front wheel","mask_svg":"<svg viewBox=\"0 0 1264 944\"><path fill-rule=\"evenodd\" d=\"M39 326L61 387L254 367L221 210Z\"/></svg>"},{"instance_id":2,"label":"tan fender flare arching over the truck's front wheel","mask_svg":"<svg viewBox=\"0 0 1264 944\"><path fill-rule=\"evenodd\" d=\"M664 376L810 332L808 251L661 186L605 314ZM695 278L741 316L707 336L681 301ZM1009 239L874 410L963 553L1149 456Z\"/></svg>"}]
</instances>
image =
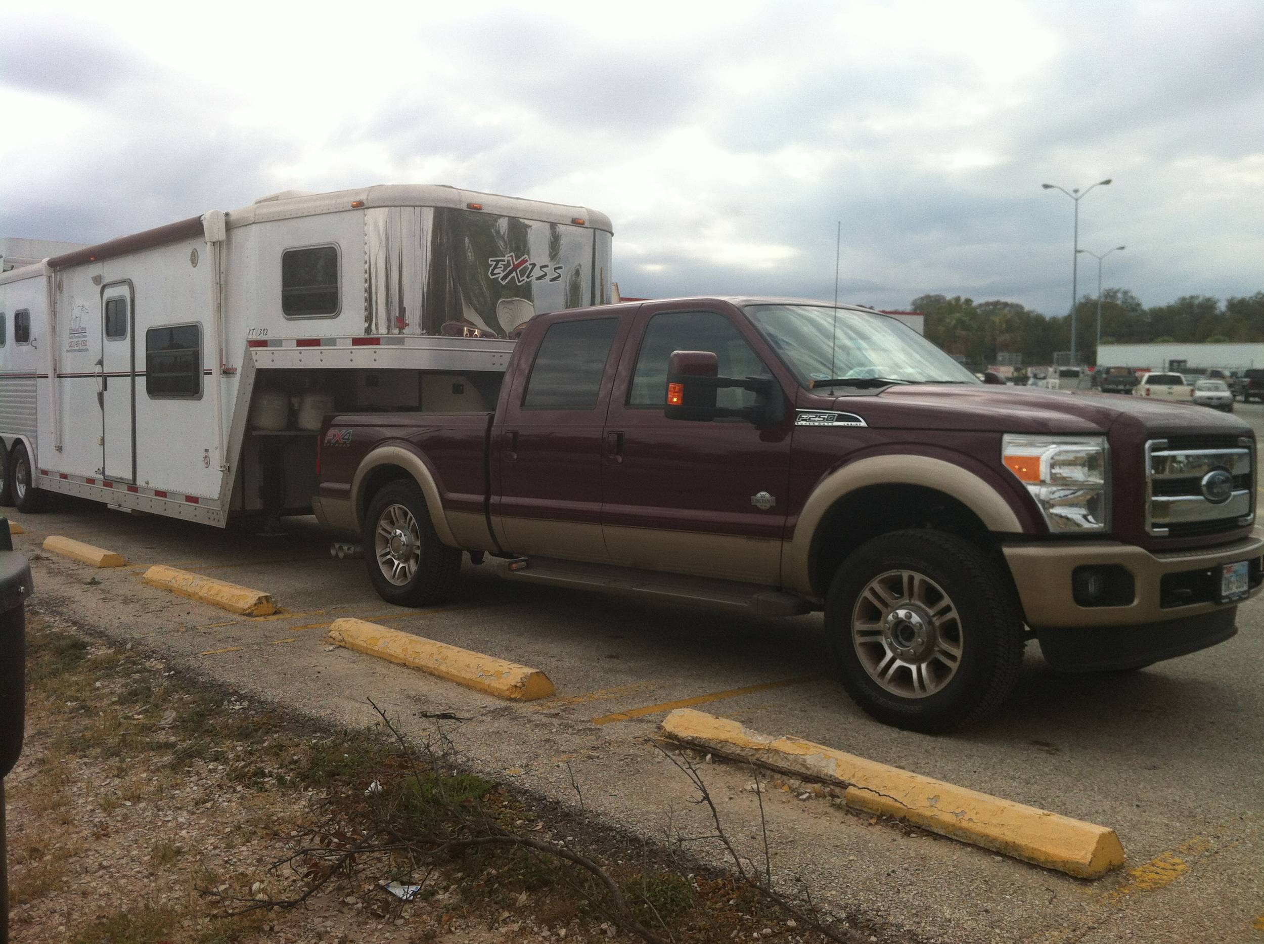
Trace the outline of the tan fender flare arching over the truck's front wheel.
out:
<instances>
[{"instance_id":1,"label":"tan fender flare arching over the truck's front wheel","mask_svg":"<svg viewBox=\"0 0 1264 944\"><path fill-rule=\"evenodd\" d=\"M978 516L988 531L1023 532L1018 514L996 488L961 465L921 455L870 456L832 471L808 497L782 559L785 585L811 593L811 545L822 518L839 499L870 485L919 485L943 492Z\"/></svg>"}]
</instances>

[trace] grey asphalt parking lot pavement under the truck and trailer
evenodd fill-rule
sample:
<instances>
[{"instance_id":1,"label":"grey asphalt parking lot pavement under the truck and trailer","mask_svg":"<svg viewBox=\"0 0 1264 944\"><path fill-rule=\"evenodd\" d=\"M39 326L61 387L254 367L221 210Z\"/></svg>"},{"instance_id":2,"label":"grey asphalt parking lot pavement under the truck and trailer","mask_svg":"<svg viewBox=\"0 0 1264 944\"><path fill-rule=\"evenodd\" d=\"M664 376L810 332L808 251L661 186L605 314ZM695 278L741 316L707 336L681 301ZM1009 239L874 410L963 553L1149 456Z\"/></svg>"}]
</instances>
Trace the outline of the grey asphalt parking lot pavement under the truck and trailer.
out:
<instances>
[{"instance_id":1,"label":"grey asphalt parking lot pavement under the truck and trailer","mask_svg":"<svg viewBox=\"0 0 1264 944\"><path fill-rule=\"evenodd\" d=\"M1237 411L1264 437L1264 407ZM1230 642L1130 675L1058 675L1033 644L999 717L924 737L876 724L847 699L828 675L819 614L734 618L520 586L493 564L466 564L450 604L408 610L375 596L363 561L330 559L310 518L260 537L87 504L13 517L27 528L18 550L37 555L39 608L255 701L358 725L373 719L372 698L417 737L444 725L471 766L568 802L574 778L588 810L651 838L713 832L653 744L664 715L690 705L1112 826L1127 850L1124 869L1086 882L775 792L774 869L839 912L884 917L891 940L1264 940L1260 602L1240 610ZM129 566L42 555L49 535L107 547ZM267 590L283 609L234 617L173 596L142 583L152 564ZM339 617L542 669L557 695L499 701L330 648L325 629ZM733 839L762 854L752 771L714 763L704 776ZM717 844L693 850L722 861Z\"/></svg>"}]
</instances>

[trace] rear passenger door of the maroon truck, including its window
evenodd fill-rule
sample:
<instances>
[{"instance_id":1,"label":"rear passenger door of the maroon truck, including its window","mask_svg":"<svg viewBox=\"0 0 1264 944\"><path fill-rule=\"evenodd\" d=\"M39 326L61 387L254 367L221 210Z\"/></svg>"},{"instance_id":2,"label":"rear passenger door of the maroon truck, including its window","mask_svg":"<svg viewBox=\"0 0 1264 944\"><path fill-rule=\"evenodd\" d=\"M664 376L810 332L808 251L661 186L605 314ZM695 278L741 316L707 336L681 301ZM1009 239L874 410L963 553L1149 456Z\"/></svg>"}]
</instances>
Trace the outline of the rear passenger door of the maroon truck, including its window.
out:
<instances>
[{"instance_id":1,"label":"rear passenger door of the maroon truck, including its window","mask_svg":"<svg viewBox=\"0 0 1264 944\"><path fill-rule=\"evenodd\" d=\"M533 350L521 350L492 442L492 519L504 550L608 560L602 432L628 324L614 315L562 316L521 342Z\"/></svg>"}]
</instances>

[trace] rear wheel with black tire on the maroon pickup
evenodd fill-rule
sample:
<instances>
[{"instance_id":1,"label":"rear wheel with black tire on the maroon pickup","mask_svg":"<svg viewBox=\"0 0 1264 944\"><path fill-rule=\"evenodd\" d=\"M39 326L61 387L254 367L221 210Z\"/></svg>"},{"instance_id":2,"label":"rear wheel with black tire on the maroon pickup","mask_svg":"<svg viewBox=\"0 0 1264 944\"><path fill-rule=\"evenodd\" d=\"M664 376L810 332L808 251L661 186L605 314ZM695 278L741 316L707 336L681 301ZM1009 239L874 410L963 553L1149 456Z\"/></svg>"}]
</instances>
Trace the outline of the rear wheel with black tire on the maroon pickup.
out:
<instances>
[{"instance_id":1,"label":"rear wheel with black tire on the maroon pickup","mask_svg":"<svg viewBox=\"0 0 1264 944\"><path fill-rule=\"evenodd\" d=\"M384 547L379 547L379 524L386 523L394 526L397 536L388 538L383 532ZM442 603L451 596L461 571L461 551L439 540L426 497L411 479L388 483L369 502L364 561L378 595L399 607Z\"/></svg>"}]
</instances>

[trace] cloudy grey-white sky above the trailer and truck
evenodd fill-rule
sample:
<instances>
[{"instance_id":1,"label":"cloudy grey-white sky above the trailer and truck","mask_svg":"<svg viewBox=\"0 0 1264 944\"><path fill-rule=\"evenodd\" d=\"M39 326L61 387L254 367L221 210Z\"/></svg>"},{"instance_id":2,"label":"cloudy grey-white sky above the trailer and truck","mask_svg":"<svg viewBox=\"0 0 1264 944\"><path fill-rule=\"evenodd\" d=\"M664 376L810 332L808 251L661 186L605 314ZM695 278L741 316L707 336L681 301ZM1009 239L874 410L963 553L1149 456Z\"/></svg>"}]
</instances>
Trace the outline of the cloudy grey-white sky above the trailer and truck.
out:
<instances>
[{"instance_id":1,"label":"cloudy grey-white sky above the trailer and truck","mask_svg":"<svg viewBox=\"0 0 1264 944\"><path fill-rule=\"evenodd\" d=\"M614 222L624 294L1264 289L1264 5L0 0L0 236L451 183ZM1096 288L1096 262L1081 292Z\"/></svg>"}]
</instances>

